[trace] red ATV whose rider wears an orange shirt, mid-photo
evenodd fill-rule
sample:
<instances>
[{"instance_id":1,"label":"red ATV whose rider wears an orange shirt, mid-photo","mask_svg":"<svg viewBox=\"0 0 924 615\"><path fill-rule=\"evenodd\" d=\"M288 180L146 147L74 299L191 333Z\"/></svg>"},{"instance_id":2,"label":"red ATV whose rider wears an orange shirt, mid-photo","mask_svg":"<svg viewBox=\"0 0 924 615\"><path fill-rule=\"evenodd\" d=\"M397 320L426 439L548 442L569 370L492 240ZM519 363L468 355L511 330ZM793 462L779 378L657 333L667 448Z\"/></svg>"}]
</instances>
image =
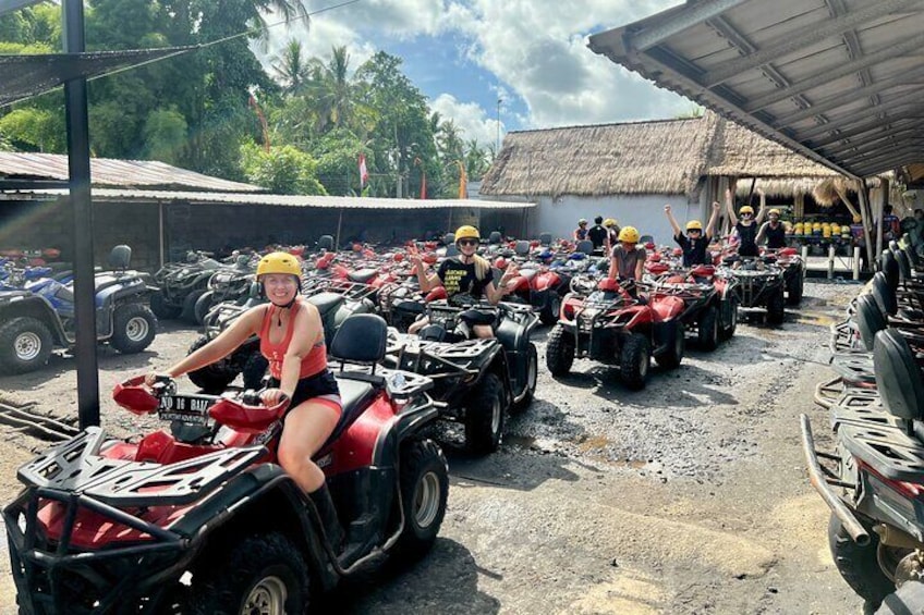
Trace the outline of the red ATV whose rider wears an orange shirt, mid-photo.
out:
<instances>
[{"instance_id":1,"label":"red ATV whose rider wears an orange shirt, mid-photo","mask_svg":"<svg viewBox=\"0 0 924 615\"><path fill-rule=\"evenodd\" d=\"M580 283L572 287L580 288ZM685 345L679 318L683 300L665 295L636 298L630 290L607 278L586 296L566 295L561 320L549 333L546 348L552 376L568 373L575 357L589 358L619 366L625 385L640 390L648 379L652 357L666 368L680 365Z\"/></svg>"}]
</instances>

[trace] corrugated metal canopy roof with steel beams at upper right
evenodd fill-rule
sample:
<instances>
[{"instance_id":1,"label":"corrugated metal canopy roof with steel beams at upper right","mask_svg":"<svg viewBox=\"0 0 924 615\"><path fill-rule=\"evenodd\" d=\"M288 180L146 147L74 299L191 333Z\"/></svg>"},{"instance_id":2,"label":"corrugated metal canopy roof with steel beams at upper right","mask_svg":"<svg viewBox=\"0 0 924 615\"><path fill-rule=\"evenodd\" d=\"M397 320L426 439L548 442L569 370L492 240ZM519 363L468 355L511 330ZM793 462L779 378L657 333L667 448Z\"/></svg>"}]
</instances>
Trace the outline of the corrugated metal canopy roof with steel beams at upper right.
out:
<instances>
[{"instance_id":1,"label":"corrugated metal canopy roof with steel beams at upper right","mask_svg":"<svg viewBox=\"0 0 924 615\"><path fill-rule=\"evenodd\" d=\"M922 162L924 0L690 0L589 47L850 175Z\"/></svg>"}]
</instances>

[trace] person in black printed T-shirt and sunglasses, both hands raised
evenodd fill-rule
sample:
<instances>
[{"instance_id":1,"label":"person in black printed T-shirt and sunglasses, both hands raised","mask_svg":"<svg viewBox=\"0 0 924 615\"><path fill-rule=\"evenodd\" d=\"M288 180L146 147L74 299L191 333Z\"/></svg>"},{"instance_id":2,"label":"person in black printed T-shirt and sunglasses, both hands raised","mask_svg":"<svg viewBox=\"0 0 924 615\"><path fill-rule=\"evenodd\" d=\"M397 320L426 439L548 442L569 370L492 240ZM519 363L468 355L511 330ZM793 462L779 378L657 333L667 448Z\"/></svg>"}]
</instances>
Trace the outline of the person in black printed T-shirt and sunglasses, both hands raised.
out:
<instances>
[{"instance_id":1,"label":"person in black printed T-shirt and sunglasses, both hands raised","mask_svg":"<svg viewBox=\"0 0 924 615\"><path fill-rule=\"evenodd\" d=\"M411 262L416 267L421 292L429 293L442 284L450 302L453 296L471 295L474 299L478 299L484 295L489 304L497 305L507 294L507 283L516 275L516 265L511 262L495 286L490 263L475 254L478 249L479 239L481 234L477 229L469 224L460 226L455 231L455 247L459 248L459 256L443 260L437 272L431 275L427 275L421 256L413 255ZM494 337L491 324L495 316L493 313L466 310L461 318L464 328L470 328L477 337ZM414 322L408 331L416 333L426 324L428 324L428 320L423 317ZM469 333L469 331L463 331L463 336L467 337Z\"/></svg>"}]
</instances>

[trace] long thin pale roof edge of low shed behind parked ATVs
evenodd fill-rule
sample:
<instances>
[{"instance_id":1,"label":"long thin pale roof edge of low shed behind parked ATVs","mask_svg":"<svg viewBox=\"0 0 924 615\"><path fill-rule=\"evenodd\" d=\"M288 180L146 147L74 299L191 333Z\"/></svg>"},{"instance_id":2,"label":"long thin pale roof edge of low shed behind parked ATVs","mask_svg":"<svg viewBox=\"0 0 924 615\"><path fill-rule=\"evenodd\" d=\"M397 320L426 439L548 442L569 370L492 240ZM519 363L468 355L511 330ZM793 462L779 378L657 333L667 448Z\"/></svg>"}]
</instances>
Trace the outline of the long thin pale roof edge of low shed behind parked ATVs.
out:
<instances>
[{"instance_id":1,"label":"long thin pale roof edge of low shed behind parked ATVs","mask_svg":"<svg viewBox=\"0 0 924 615\"><path fill-rule=\"evenodd\" d=\"M48 197L66 196L64 189L7 190L0 193L0 200L38 200ZM483 199L399 199L345 196L303 196L267 195L244 193L192 193L172 190L123 190L113 188L93 188L95 201L120 202L187 202L224 205L269 205L277 207L317 207L325 209L524 209L535 207L535 202L483 200Z\"/></svg>"}]
</instances>

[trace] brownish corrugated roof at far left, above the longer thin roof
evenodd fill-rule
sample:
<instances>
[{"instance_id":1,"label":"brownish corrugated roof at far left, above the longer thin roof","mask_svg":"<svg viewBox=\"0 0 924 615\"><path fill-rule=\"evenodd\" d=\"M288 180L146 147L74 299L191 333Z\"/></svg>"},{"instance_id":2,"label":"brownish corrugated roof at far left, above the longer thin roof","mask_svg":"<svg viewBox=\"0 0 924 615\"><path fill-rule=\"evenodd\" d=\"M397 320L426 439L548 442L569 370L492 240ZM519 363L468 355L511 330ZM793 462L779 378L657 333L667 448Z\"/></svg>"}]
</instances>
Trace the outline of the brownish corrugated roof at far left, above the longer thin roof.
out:
<instances>
[{"instance_id":1,"label":"brownish corrugated roof at far left, above the longer thin roof","mask_svg":"<svg viewBox=\"0 0 924 615\"><path fill-rule=\"evenodd\" d=\"M223 193L264 190L259 186L203 175L156 160L92 158L90 175L94 186L124 188L175 186ZM66 181L69 176L68 157L64 155L0 151L0 179Z\"/></svg>"}]
</instances>

